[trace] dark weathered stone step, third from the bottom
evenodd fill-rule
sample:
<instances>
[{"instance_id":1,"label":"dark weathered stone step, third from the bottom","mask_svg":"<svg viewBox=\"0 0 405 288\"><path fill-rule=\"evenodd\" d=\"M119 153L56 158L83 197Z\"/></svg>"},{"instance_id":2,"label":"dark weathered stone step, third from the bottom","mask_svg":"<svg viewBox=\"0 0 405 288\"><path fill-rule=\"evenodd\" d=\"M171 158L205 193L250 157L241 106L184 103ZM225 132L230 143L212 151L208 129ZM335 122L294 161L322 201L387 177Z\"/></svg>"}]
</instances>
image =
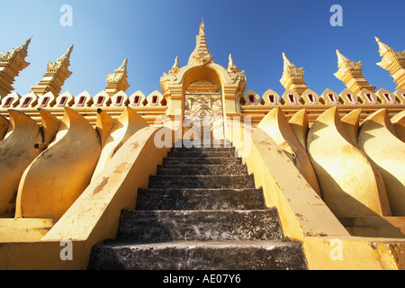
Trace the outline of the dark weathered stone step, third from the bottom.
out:
<instances>
[{"instance_id":1,"label":"dark weathered stone step, third from the bottom","mask_svg":"<svg viewBox=\"0 0 405 288\"><path fill-rule=\"evenodd\" d=\"M263 210L262 189L139 189L136 210Z\"/></svg>"}]
</instances>

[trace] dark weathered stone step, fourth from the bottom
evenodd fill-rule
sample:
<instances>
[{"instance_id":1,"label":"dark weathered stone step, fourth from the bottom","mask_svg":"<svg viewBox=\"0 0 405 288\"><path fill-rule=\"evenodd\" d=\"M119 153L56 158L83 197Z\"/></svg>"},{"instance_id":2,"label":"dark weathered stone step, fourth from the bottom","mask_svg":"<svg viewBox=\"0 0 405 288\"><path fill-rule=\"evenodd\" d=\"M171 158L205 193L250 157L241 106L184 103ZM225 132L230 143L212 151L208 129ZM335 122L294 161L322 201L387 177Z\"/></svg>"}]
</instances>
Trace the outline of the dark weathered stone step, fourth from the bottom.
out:
<instances>
[{"instance_id":1,"label":"dark weathered stone step, fourth from the bottom","mask_svg":"<svg viewBox=\"0 0 405 288\"><path fill-rule=\"evenodd\" d=\"M149 188L256 188L253 175L156 175L149 177Z\"/></svg>"}]
</instances>

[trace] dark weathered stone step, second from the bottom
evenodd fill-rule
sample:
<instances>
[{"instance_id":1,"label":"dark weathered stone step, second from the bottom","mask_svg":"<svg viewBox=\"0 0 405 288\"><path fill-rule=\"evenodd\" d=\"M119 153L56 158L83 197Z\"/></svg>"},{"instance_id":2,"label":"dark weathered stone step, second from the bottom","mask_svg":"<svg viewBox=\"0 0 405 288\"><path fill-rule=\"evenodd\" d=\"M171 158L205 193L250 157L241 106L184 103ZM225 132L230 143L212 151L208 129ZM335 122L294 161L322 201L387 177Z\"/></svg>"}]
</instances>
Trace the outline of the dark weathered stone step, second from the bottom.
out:
<instances>
[{"instance_id":1,"label":"dark weathered stone step, second from the bottom","mask_svg":"<svg viewBox=\"0 0 405 288\"><path fill-rule=\"evenodd\" d=\"M275 240L276 210L122 211L117 239L131 241Z\"/></svg>"}]
</instances>

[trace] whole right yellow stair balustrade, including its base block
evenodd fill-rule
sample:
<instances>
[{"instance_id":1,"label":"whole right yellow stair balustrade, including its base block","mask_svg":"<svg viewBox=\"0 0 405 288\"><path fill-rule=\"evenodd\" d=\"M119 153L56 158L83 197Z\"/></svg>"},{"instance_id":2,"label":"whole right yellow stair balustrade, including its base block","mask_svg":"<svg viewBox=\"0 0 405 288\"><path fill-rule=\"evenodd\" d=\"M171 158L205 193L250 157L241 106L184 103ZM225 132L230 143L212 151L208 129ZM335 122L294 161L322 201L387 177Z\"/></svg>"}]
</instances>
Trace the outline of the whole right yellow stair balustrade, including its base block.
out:
<instances>
[{"instance_id":1,"label":"whole right yellow stair balustrade, including its base block","mask_svg":"<svg viewBox=\"0 0 405 288\"><path fill-rule=\"evenodd\" d=\"M232 130L230 139L263 187L266 205L277 208L284 235L302 243L310 270L405 269L403 238L350 236L265 131Z\"/></svg>"}]
</instances>

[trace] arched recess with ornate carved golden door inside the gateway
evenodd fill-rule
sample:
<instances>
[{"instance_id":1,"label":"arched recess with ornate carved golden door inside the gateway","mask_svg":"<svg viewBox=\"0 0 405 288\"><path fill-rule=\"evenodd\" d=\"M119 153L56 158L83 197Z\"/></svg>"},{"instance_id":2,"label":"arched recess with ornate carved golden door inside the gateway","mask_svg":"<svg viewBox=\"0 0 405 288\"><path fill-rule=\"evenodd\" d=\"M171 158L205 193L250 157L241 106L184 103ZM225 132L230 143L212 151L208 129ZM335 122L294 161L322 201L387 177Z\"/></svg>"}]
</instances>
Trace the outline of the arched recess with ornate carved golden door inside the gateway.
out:
<instances>
[{"instance_id":1,"label":"arched recess with ornate carved golden door inside the gateway","mask_svg":"<svg viewBox=\"0 0 405 288\"><path fill-rule=\"evenodd\" d=\"M199 80L184 91L184 135L190 139L224 139L223 103L220 87Z\"/></svg>"}]
</instances>

